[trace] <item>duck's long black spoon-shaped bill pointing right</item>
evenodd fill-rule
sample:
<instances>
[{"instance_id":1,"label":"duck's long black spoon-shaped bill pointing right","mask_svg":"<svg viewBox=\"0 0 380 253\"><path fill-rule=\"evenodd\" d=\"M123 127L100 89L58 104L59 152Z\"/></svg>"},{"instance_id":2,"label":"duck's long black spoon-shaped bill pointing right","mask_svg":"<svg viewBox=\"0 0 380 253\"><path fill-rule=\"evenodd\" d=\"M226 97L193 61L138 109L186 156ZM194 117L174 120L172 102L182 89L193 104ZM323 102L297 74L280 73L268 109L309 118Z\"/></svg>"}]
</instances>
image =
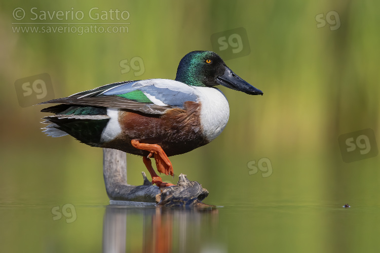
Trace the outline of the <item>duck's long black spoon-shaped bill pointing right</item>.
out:
<instances>
[{"instance_id":1,"label":"duck's long black spoon-shaped bill pointing right","mask_svg":"<svg viewBox=\"0 0 380 253\"><path fill-rule=\"evenodd\" d=\"M248 82L240 78L229 67L225 66L224 74L216 77L216 82L219 85L230 88L235 91L241 91L249 95L262 95L262 91L254 88Z\"/></svg>"}]
</instances>

